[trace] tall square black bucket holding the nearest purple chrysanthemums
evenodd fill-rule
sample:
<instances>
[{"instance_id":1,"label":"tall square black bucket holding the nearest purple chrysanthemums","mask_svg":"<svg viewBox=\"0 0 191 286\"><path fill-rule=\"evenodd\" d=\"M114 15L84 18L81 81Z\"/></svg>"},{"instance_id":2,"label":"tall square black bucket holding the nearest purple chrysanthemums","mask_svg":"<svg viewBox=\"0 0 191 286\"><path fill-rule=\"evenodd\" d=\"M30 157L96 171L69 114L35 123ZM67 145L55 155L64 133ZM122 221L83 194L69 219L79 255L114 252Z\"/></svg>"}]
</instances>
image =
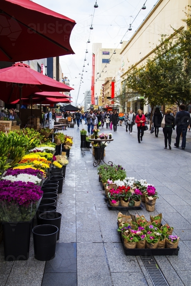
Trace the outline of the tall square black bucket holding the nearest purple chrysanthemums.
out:
<instances>
[{"instance_id":1,"label":"tall square black bucket holding the nearest purple chrysanthemums","mask_svg":"<svg viewBox=\"0 0 191 286\"><path fill-rule=\"evenodd\" d=\"M5 261L27 260L29 258L32 221L1 223Z\"/></svg>"}]
</instances>

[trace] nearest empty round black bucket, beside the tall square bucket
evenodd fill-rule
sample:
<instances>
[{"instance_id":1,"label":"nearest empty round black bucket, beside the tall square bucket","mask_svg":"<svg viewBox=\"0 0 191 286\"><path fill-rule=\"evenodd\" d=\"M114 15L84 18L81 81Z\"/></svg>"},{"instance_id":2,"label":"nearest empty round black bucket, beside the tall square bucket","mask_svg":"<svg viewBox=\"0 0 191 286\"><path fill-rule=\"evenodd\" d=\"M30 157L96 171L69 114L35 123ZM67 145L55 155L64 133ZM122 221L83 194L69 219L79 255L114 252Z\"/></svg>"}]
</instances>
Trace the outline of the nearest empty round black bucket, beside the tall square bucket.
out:
<instances>
[{"instance_id":1,"label":"nearest empty round black bucket, beside the tall square bucket","mask_svg":"<svg viewBox=\"0 0 191 286\"><path fill-rule=\"evenodd\" d=\"M58 227L55 225L38 225L32 229L34 257L40 261L55 257Z\"/></svg>"}]
</instances>

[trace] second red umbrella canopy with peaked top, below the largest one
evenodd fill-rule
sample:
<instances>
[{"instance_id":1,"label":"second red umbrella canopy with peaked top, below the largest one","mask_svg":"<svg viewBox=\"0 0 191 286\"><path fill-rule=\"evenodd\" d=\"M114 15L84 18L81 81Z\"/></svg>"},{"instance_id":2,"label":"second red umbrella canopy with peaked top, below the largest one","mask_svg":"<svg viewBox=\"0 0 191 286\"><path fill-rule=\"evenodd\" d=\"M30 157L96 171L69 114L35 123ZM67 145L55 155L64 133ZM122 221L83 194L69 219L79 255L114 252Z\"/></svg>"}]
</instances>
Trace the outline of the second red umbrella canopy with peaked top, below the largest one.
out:
<instances>
[{"instance_id":1,"label":"second red umbrella canopy with peaked top, below the largest one","mask_svg":"<svg viewBox=\"0 0 191 286\"><path fill-rule=\"evenodd\" d=\"M31 94L39 91L67 92L70 87L36 72L25 63L15 63L11 67L0 69L1 100L9 104L19 99L21 88L22 98L28 98ZM73 90L73 88L70 89Z\"/></svg>"}]
</instances>

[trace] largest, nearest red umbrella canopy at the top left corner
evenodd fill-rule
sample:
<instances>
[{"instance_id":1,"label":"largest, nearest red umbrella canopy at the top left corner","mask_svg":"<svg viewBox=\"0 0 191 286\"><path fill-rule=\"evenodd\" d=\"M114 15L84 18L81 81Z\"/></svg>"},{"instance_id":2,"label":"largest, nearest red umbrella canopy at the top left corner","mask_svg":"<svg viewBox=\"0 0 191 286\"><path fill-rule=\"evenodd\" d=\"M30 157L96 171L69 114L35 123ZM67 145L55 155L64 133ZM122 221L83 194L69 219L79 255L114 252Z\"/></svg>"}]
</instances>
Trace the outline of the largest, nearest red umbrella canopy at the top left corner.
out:
<instances>
[{"instance_id":1,"label":"largest, nearest red umbrella canopy at the top left corner","mask_svg":"<svg viewBox=\"0 0 191 286\"><path fill-rule=\"evenodd\" d=\"M74 20L30 0L0 0L0 61L74 54Z\"/></svg>"}]
</instances>

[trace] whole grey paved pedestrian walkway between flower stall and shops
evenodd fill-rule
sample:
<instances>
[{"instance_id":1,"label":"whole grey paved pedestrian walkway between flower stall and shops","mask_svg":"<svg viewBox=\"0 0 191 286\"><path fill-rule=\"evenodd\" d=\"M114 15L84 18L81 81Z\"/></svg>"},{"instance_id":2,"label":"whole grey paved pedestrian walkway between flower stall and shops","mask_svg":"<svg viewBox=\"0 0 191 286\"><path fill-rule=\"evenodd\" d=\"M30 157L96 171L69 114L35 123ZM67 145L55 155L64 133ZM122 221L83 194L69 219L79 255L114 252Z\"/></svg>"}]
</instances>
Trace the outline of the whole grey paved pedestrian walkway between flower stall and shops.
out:
<instances>
[{"instance_id":1,"label":"whole grey paved pedestrian walkway between flower stall and shops","mask_svg":"<svg viewBox=\"0 0 191 286\"><path fill-rule=\"evenodd\" d=\"M87 126L82 124L81 128ZM108 129L101 131L108 132ZM162 130L158 138L145 132L141 144L137 141L136 126L132 135L125 132L124 125L112 133L114 141L106 147L105 161L121 164L127 176L146 179L156 187L159 199L152 214L162 212L162 223L173 226L181 241L178 256L155 259L170 286L190 286L190 152L174 147L164 149ZM140 257L125 256L116 230L117 212L107 208L91 150L80 149L80 130L75 126L64 134L74 137L74 145L58 199L62 226L57 255L45 266L34 259L31 244L28 261L4 262L1 244L0 286L40 286L41 283L43 286L152 286ZM172 139L172 146L174 142ZM186 144L189 151L189 142ZM147 219L151 214L145 208L137 213Z\"/></svg>"}]
</instances>

